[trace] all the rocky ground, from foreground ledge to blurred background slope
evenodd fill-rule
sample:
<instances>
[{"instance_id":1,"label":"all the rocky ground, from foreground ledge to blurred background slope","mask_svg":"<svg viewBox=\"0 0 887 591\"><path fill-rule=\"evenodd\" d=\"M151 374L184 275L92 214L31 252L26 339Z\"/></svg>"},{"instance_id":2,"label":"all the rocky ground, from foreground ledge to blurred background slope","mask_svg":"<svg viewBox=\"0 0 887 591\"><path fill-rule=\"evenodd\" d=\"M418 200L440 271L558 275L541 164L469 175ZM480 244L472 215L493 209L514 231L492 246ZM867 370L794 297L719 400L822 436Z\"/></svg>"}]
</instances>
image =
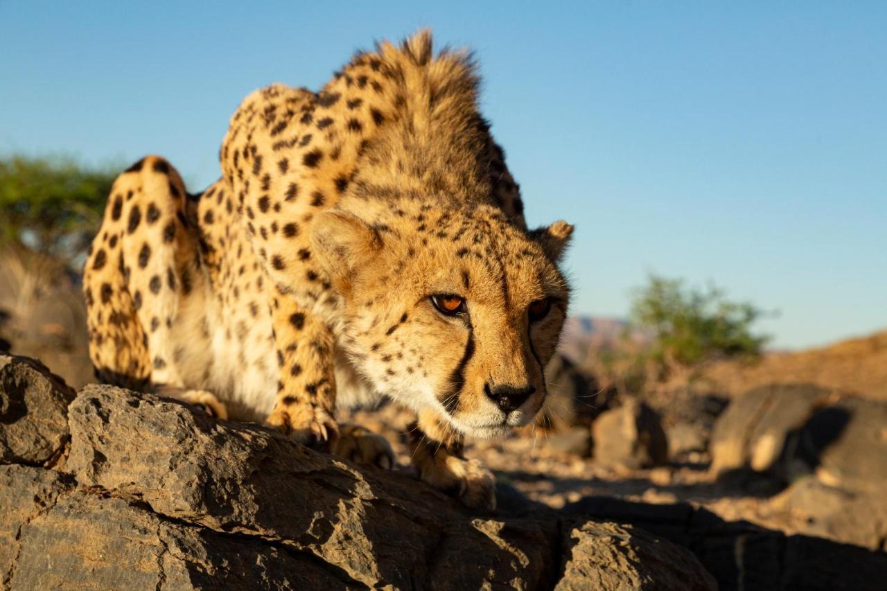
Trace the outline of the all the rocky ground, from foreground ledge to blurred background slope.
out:
<instances>
[{"instance_id":1,"label":"all the rocky ground, from foreground ledge to blurred background slope","mask_svg":"<svg viewBox=\"0 0 887 591\"><path fill-rule=\"evenodd\" d=\"M883 587L883 335L634 398L575 361L622 325L575 320L545 421L467 446L477 515L414 479L392 407L341 411L381 472L90 384L75 278L41 269L0 260L0 352L63 376L0 356L3 588Z\"/></svg>"}]
</instances>

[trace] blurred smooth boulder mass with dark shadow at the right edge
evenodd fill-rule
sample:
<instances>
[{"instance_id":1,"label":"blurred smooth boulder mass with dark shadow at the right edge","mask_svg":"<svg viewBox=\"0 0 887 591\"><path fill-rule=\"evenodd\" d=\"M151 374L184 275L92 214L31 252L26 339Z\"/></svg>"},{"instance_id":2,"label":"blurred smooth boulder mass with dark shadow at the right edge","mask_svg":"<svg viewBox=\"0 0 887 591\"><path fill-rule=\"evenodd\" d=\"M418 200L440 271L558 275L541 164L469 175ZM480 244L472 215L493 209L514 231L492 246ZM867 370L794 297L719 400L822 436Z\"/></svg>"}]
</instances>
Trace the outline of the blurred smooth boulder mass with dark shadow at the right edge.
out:
<instances>
[{"instance_id":1,"label":"blurred smooth boulder mass with dark shadow at the right edge","mask_svg":"<svg viewBox=\"0 0 887 591\"><path fill-rule=\"evenodd\" d=\"M788 488L773 511L807 532L887 548L887 404L809 385L750 390L715 429L713 470L751 469Z\"/></svg>"}]
</instances>

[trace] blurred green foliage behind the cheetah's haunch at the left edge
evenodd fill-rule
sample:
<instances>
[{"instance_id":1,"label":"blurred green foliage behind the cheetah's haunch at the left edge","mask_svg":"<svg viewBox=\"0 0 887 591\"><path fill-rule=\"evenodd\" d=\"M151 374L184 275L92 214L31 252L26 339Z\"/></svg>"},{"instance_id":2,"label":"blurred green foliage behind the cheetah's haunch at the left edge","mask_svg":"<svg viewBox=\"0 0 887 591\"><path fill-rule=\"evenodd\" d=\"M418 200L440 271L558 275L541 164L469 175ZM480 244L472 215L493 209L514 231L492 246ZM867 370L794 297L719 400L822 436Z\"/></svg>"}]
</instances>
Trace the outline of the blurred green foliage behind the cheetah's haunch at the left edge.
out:
<instances>
[{"instance_id":1,"label":"blurred green foliage behind the cheetah's haunch at the left edge","mask_svg":"<svg viewBox=\"0 0 887 591\"><path fill-rule=\"evenodd\" d=\"M0 159L0 240L69 259L101 222L116 173L63 157Z\"/></svg>"}]
</instances>

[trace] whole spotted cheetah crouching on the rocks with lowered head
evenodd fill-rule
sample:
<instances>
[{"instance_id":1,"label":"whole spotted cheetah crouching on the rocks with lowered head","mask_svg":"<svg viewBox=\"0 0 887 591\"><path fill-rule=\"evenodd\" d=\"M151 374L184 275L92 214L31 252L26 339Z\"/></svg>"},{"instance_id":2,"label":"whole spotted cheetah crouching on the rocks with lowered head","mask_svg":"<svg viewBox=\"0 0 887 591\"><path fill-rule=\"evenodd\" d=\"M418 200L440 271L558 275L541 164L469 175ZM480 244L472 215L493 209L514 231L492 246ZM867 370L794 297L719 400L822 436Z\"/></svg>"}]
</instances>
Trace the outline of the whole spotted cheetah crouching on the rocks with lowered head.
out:
<instances>
[{"instance_id":1,"label":"whole spotted cheetah crouching on the rocks with lowered head","mask_svg":"<svg viewBox=\"0 0 887 591\"><path fill-rule=\"evenodd\" d=\"M542 406L572 226L527 230L477 83L421 32L318 93L255 91L203 193L156 156L123 172L83 274L98 376L381 465L334 407L387 397L416 414L420 477L491 507L462 439Z\"/></svg>"}]
</instances>

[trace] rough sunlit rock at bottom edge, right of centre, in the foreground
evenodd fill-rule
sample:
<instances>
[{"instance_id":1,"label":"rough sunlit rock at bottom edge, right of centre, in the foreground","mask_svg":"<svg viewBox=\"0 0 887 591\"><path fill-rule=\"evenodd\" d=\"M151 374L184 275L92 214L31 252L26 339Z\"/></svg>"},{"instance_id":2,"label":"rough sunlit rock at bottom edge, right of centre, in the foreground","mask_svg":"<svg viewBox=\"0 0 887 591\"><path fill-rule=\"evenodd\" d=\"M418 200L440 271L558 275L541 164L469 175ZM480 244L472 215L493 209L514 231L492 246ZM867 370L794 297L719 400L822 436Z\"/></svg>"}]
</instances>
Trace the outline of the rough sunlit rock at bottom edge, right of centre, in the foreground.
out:
<instances>
[{"instance_id":1,"label":"rough sunlit rock at bottom edge, right of centre, in the foreground","mask_svg":"<svg viewBox=\"0 0 887 591\"><path fill-rule=\"evenodd\" d=\"M586 521L564 536L559 591L580 589L717 589L686 548L631 525Z\"/></svg>"}]
</instances>

